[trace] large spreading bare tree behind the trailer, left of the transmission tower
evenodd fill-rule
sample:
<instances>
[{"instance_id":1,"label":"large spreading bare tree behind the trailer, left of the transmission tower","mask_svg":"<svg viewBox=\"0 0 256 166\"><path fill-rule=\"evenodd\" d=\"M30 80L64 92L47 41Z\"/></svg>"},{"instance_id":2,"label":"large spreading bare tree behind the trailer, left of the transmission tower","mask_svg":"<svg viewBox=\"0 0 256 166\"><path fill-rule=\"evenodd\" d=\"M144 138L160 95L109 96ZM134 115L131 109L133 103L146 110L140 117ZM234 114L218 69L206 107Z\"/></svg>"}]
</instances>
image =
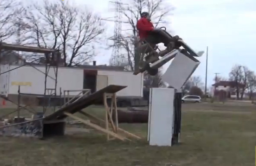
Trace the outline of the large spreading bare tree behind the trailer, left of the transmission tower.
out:
<instances>
[{"instance_id":1,"label":"large spreading bare tree behind the trailer, left of the transmission tower","mask_svg":"<svg viewBox=\"0 0 256 166\"><path fill-rule=\"evenodd\" d=\"M22 19L24 41L62 51L64 65L85 63L95 56L104 32L101 19L86 6L44 1L27 6Z\"/></svg>"}]
</instances>

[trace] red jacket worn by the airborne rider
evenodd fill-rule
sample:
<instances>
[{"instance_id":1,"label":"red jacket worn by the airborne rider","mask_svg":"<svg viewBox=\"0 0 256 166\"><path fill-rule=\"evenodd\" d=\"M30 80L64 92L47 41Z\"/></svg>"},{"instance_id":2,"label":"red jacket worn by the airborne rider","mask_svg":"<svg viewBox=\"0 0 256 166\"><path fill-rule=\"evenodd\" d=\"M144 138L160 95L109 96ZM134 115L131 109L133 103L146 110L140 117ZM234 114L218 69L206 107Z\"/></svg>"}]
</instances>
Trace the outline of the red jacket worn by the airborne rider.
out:
<instances>
[{"instance_id":1,"label":"red jacket worn by the airborne rider","mask_svg":"<svg viewBox=\"0 0 256 166\"><path fill-rule=\"evenodd\" d=\"M154 25L146 18L139 19L136 27L138 29L140 39L147 38L149 31L154 30Z\"/></svg>"}]
</instances>

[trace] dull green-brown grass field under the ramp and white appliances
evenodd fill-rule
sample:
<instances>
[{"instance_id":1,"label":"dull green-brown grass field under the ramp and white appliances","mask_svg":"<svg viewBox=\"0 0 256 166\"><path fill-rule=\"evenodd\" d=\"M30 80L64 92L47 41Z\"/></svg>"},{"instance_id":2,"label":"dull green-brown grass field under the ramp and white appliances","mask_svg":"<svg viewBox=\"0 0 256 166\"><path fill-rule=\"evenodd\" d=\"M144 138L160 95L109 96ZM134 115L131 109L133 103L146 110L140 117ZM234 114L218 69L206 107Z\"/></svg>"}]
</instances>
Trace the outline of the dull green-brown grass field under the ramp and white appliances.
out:
<instances>
[{"instance_id":1,"label":"dull green-brown grass field under the ramp and white appliances","mask_svg":"<svg viewBox=\"0 0 256 166\"><path fill-rule=\"evenodd\" d=\"M2 109L0 114L10 111ZM88 111L102 116L103 109L94 106ZM98 132L44 141L2 137L0 166L255 165L256 106L249 103L183 104L181 144L173 147L148 146L147 124L120 127L144 139L107 142Z\"/></svg>"}]
</instances>

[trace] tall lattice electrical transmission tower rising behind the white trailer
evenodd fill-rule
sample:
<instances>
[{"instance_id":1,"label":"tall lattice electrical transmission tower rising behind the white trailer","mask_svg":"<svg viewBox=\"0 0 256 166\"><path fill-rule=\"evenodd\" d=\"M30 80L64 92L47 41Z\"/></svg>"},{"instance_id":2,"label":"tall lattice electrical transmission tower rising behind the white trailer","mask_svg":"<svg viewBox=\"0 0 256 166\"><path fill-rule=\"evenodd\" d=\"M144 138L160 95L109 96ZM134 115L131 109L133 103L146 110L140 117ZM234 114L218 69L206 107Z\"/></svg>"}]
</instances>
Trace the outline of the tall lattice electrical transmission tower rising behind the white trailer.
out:
<instances>
[{"instance_id":1,"label":"tall lattice electrical transmission tower rising behind the white trailer","mask_svg":"<svg viewBox=\"0 0 256 166\"><path fill-rule=\"evenodd\" d=\"M112 56L111 56L111 65L118 65L117 59L120 57L120 48L121 48L121 40L122 40L122 13L121 13L121 0L116 1L110 1L110 3L115 4L115 30L114 30L114 36L112 40L114 41L114 47L112 50Z\"/></svg>"}]
</instances>

